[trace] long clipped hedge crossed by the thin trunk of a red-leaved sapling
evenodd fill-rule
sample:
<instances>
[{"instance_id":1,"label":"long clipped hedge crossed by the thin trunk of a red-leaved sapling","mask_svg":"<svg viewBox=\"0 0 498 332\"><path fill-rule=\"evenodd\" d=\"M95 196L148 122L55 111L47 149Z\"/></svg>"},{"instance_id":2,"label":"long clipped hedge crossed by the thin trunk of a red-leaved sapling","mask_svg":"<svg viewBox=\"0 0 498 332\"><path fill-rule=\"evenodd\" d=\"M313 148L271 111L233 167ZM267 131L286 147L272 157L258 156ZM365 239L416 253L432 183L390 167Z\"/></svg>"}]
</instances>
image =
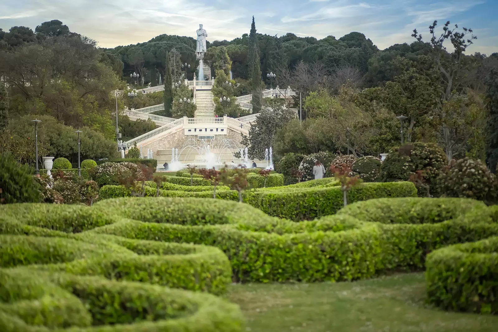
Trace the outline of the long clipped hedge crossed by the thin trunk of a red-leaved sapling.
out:
<instances>
[{"instance_id":1,"label":"long clipped hedge crossed by the thin trunk of a red-leaved sapling","mask_svg":"<svg viewBox=\"0 0 498 332\"><path fill-rule=\"evenodd\" d=\"M370 182L354 187L348 193L350 203L379 197L416 196L412 182ZM339 186L299 188L295 190L252 190L245 202L271 216L292 220L310 220L334 214L343 206L343 192Z\"/></svg>"}]
</instances>

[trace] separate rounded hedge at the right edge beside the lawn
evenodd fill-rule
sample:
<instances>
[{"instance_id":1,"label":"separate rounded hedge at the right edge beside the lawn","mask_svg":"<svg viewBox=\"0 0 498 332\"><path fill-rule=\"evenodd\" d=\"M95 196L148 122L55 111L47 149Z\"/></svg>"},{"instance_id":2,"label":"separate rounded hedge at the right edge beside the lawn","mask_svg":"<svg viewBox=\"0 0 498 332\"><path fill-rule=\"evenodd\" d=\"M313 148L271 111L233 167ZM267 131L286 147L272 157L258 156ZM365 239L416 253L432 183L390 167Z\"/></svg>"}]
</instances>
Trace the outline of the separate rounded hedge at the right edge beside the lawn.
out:
<instances>
[{"instance_id":1,"label":"separate rounded hedge at the right edge beside the lawn","mask_svg":"<svg viewBox=\"0 0 498 332\"><path fill-rule=\"evenodd\" d=\"M498 314L498 237L434 251L426 262L427 297L445 310Z\"/></svg>"}]
</instances>

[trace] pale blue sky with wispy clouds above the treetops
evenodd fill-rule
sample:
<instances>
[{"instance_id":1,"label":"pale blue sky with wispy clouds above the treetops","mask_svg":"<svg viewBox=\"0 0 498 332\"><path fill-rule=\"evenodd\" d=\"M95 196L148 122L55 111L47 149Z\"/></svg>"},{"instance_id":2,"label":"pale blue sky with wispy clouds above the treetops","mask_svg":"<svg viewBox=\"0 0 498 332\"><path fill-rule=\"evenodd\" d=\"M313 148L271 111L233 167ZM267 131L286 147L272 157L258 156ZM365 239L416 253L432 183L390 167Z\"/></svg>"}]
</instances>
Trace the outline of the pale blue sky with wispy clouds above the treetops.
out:
<instances>
[{"instance_id":1,"label":"pale blue sky with wispy clouds above the treetops","mask_svg":"<svg viewBox=\"0 0 498 332\"><path fill-rule=\"evenodd\" d=\"M249 33L337 38L364 33L380 49L412 42L417 28L429 39L437 19L468 27L478 36L468 52L498 52L498 0L0 0L0 27L59 19L101 47L145 42L159 34L195 37L204 24L209 41Z\"/></svg>"}]
</instances>

